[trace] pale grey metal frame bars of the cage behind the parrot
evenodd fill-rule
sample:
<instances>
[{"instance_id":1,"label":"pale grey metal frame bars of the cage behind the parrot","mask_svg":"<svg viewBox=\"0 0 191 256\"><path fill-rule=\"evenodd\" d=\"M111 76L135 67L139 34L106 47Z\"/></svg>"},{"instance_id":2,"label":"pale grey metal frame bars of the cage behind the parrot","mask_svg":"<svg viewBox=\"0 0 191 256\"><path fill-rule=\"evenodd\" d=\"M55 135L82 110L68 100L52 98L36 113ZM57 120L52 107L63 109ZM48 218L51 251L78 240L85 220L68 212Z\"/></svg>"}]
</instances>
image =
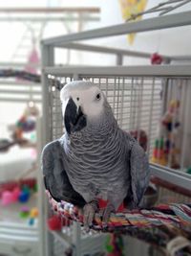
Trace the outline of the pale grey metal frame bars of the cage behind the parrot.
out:
<instances>
[{"instance_id":1,"label":"pale grey metal frame bars of the cage behind the parrot","mask_svg":"<svg viewBox=\"0 0 191 256\"><path fill-rule=\"evenodd\" d=\"M149 18L141 21L135 21L127 24L120 24L116 26L96 29L93 31L82 32L72 35L63 35L49 38L42 41L42 83L43 83L43 144L45 145L53 139L52 130L50 129L51 115L48 111L51 103L52 91L50 90L48 75L54 77L69 77L72 80L78 80L85 76L125 76L125 77L158 77L158 78L188 78L191 79L191 66L190 65L162 65L162 66L120 66L123 64L124 56L138 57L138 58L150 58L148 53L139 53L124 51L120 49L111 49L107 47L97 47L76 43L80 40L88 40L93 38L127 35L130 33L156 31L160 29L175 28L181 26L191 25L190 20L191 12L181 12L165 16L159 16ZM56 66L54 63L54 50L56 48L67 48L82 51L91 51L99 53L112 54L117 57L117 66L111 67L88 67L88 66ZM162 56L166 63L172 60L191 60L190 57L166 57ZM151 164L152 174L162 179L168 180L175 185L190 189L191 177L184 175L175 170L171 170L166 167ZM47 210L47 209L45 209ZM75 248L80 248L80 229L77 225L73 229ZM54 233L54 232L53 232ZM57 233L54 233L54 236ZM76 237L78 234L78 238ZM71 238L68 236L61 236L61 242L63 244L71 244ZM77 239L76 239L77 238ZM53 243L49 234L47 234L47 251L46 255L52 255ZM90 249L90 248L89 248ZM91 250L90 250L91 251ZM76 256L82 255L80 249L75 251Z\"/></svg>"}]
</instances>

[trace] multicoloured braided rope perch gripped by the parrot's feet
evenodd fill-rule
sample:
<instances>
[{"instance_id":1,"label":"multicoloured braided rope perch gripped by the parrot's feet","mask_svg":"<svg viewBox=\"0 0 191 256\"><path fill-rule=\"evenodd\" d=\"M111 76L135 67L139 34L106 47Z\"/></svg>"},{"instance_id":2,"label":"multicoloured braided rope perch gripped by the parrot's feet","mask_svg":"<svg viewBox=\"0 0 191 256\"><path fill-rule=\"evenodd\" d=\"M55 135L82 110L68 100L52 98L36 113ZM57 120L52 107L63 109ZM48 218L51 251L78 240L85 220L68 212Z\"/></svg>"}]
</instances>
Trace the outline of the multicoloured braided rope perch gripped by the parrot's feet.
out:
<instances>
[{"instance_id":1,"label":"multicoloured braided rope perch gripped by the parrot's feet","mask_svg":"<svg viewBox=\"0 0 191 256\"><path fill-rule=\"evenodd\" d=\"M63 218L72 221L79 221L83 224L83 214L72 203L55 201L47 192L53 210ZM95 218L93 228L97 231L128 230L129 228L148 228L159 226L174 226L188 228L191 235L191 204L165 204L151 209L125 210L121 213L112 214L108 226L103 228L102 221L98 214ZM103 230L104 229L104 230Z\"/></svg>"}]
</instances>

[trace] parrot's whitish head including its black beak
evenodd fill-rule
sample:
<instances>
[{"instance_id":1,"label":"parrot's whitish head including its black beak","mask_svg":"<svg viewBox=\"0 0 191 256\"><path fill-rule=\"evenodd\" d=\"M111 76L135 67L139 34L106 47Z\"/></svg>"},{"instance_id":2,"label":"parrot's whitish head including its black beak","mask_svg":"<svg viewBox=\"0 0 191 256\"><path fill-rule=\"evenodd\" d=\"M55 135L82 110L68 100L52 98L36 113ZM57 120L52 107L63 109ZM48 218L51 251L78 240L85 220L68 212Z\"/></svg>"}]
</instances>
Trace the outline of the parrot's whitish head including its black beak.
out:
<instances>
[{"instance_id":1,"label":"parrot's whitish head including its black beak","mask_svg":"<svg viewBox=\"0 0 191 256\"><path fill-rule=\"evenodd\" d=\"M61 92L62 113L67 132L71 134L83 128L100 124L107 111L112 113L106 97L91 81L72 81Z\"/></svg>"}]
</instances>

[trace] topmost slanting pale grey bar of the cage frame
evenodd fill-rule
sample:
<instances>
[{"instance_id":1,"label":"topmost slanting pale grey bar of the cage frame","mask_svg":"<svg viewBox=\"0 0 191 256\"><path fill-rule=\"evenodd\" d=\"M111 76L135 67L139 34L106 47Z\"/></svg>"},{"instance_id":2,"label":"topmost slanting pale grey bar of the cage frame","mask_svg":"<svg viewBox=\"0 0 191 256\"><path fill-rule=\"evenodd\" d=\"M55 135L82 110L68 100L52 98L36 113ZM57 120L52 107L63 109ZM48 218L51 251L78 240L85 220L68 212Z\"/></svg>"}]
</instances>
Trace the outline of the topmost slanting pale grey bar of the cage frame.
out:
<instances>
[{"instance_id":1,"label":"topmost slanting pale grey bar of the cage frame","mask_svg":"<svg viewBox=\"0 0 191 256\"><path fill-rule=\"evenodd\" d=\"M131 33L149 32L161 29L175 28L191 25L191 11L169 14L135 22L128 22L116 26L104 27L101 29L75 33L71 35L55 36L42 40L43 44L56 46L59 43L93 39L107 36L127 35Z\"/></svg>"}]
</instances>

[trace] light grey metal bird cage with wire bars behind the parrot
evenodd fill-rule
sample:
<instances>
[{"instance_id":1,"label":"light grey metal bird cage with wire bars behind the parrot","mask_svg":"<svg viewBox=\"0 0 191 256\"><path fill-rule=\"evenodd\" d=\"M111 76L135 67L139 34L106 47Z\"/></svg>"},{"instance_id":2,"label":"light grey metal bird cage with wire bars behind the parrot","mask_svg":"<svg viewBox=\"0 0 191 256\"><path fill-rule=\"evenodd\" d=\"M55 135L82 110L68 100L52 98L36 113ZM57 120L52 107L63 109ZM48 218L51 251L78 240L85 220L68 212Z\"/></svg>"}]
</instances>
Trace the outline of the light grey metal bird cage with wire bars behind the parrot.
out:
<instances>
[{"instance_id":1,"label":"light grey metal bird cage with wire bars behind the parrot","mask_svg":"<svg viewBox=\"0 0 191 256\"><path fill-rule=\"evenodd\" d=\"M113 109L118 126L127 132L131 132L138 139L144 150L147 151L150 159L152 181L159 187L159 202L163 202L164 199L166 199L165 202L190 202L191 175L186 174L186 170L191 165L189 157L191 144L189 128L191 66L188 64L168 64L161 66L90 67L82 65L56 66L54 62L55 48L114 54L117 57L117 65L122 65L124 56L132 55L133 57L149 58L150 55L144 53L76 44L75 41L112 35L125 35L132 32L153 31L190 24L190 12L184 12L183 14L176 13L151 18L150 20L145 19L95 31L57 36L44 40L42 47L44 114L42 135L44 144L59 138L64 132L59 97L61 88L70 81L93 81L104 92ZM183 59L182 57L163 58L166 61ZM175 110L175 113L171 116L171 126L176 128L176 132L179 132L178 140L176 136L174 137L176 132L173 134L173 143L169 146L169 151L174 150L172 145L176 144L176 147L179 149L176 151L176 160L179 162L179 166L173 164L174 156L171 153L168 154L165 163L164 161L156 161L154 159L154 156L158 156L158 154L160 156L164 155L164 152L159 151L159 149L156 153L156 140L160 140L166 126L169 125L165 122L165 118L168 117L168 115L166 116L166 111L169 105ZM167 135L169 134L167 133ZM159 143L164 144L161 141ZM159 158L161 158L160 156ZM163 182L164 180L166 183ZM97 241L96 243L91 243L92 247L89 247L79 226L70 232L73 235L64 236L59 241L61 244L73 244L75 249L78 248L74 255L78 256L97 251ZM57 234L53 233L53 237L56 238L56 236ZM102 240L101 236L98 238L99 240ZM72 240L71 237L73 237ZM93 242L95 239L94 234L91 238L88 238ZM49 240L49 242L51 241ZM56 249L58 249L58 246L55 246ZM56 254L55 250L54 253L49 253L49 255L60 255L59 253Z\"/></svg>"}]
</instances>

